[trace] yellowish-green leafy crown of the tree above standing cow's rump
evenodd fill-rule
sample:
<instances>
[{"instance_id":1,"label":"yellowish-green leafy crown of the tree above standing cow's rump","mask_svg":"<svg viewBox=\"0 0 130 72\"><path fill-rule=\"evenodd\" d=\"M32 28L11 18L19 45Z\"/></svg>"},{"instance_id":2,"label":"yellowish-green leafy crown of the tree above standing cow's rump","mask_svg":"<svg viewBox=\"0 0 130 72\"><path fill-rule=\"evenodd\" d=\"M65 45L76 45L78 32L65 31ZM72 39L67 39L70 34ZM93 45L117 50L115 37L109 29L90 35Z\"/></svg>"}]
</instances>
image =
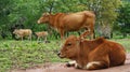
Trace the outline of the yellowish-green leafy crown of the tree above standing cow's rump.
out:
<instances>
[{"instance_id":1,"label":"yellowish-green leafy crown of the tree above standing cow's rump","mask_svg":"<svg viewBox=\"0 0 130 72\"><path fill-rule=\"evenodd\" d=\"M87 5L89 10L96 13L96 18L107 24L113 23L116 19L117 13L115 12L120 5L120 0L88 0Z\"/></svg>"}]
</instances>

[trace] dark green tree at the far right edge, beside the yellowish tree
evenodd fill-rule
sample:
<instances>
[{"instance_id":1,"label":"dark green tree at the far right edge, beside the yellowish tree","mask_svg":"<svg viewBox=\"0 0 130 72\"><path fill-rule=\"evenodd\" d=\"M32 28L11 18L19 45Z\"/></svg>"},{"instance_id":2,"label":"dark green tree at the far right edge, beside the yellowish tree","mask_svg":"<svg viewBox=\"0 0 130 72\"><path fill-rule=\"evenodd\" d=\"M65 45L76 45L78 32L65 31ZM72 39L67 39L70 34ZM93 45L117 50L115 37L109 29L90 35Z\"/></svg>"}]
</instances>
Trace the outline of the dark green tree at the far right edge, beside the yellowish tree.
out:
<instances>
[{"instance_id":1,"label":"dark green tree at the far right edge, beside the yellowish tree","mask_svg":"<svg viewBox=\"0 0 130 72\"><path fill-rule=\"evenodd\" d=\"M130 1L122 2L117 21L123 38L127 37L127 33L130 33Z\"/></svg>"}]
</instances>

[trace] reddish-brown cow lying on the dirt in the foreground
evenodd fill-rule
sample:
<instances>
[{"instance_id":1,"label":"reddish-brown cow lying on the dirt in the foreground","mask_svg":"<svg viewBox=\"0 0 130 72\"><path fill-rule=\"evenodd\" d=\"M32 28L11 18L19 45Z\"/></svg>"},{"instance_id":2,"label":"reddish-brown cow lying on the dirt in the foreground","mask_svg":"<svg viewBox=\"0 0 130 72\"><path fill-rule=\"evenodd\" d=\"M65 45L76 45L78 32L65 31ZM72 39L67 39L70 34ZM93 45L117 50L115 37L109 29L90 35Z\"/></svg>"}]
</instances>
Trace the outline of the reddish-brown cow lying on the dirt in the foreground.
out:
<instances>
[{"instance_id":1,"label":"reddish-brown cow lying on the dirt in the foreground","mask_svg":"<svg viewBox=\"0 0 130 72\"><path fill-rule=\"evenodd\" d=\"M126 60L122 45L104 38L89 41L70 35L57 55L61 58L75 60L76 68L88 70L121 66Z\"/></svg>"}]
</instances>

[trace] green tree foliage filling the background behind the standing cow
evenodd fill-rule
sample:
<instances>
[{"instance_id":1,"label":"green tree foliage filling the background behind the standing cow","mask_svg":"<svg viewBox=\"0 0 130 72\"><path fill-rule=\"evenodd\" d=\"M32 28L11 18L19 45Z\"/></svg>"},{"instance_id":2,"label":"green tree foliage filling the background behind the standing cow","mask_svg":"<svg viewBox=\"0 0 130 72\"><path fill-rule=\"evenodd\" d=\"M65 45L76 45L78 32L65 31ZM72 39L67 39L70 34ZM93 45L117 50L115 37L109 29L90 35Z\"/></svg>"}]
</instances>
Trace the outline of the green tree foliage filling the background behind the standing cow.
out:
<instances>
[{"instance_id":1,"label":"green tree foliage filling the background behind the standing cow","mask_svg":"<svg viewBox=\"0 0 130 72\"><path fill-rule=\"evenodd\" d=\"M129 0L123 1L128 2L128 4L121 3L120 0L1 0L0 31L6 31L8 35L10 35L9 29L16 24L22 24L25 28L32 29L32 31L48 30L48 26L37 25L37 20L43 12L55 14L58 12L73 13L86 10L94 11L96 14L95 29L99 26L101 28L108 26L113 30L113 26L117 26L114 25L117 15L119 15L119 20L117 21L129 23ZM123 6L118 9L120 4ZM123 13L118 13L119 10ZM127 27L129 26L129 24L126 25ZM53 30L48 31L57 33ZM51 39L52 37L55 35L51 34L49 38Z\"/></svg>"}]
</instances>

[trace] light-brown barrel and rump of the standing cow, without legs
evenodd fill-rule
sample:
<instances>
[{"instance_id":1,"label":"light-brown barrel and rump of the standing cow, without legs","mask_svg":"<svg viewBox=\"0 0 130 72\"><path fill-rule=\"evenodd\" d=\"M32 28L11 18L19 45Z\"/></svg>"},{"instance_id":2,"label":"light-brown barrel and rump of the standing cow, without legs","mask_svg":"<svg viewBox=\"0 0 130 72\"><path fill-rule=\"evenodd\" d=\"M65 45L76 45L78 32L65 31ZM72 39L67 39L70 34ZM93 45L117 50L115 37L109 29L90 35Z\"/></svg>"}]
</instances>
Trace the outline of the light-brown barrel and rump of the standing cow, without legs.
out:
<instances>
[{"instance_id":1,"label":"light-brown barrel and rump of the standing cow, without legs","mask_svg":"<svg viewBox=\"0 0 130 72\"><path fill-rule=\"evenodd\" d=\"M93 27L94 19L95 15L92 12L83 11L65 15L61 23L66 27L66 30L75 31L86 27Z\"/></svg>"}]
</instances>

